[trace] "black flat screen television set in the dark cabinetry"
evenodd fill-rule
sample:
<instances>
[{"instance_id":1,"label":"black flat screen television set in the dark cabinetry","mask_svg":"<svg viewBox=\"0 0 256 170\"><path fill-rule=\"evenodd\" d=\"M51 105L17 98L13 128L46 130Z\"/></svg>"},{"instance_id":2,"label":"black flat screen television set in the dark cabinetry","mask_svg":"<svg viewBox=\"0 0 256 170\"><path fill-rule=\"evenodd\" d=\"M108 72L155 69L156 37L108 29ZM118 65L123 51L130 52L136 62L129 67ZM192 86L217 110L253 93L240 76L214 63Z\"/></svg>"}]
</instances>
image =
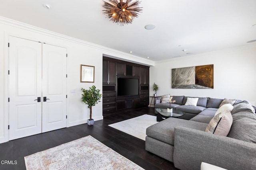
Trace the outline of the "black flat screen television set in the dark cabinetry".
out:
<instances>
[{"instance_id":1,"label":"black flat screen television set in the dark cabinetry","mask_svg":"<svg viewBox=\"0 0 256 170\"><path fill-rule=\"evenodd\" d=\"M139 95L139 79L117 78L117 96Z\"/></svg>"}]
</instances>

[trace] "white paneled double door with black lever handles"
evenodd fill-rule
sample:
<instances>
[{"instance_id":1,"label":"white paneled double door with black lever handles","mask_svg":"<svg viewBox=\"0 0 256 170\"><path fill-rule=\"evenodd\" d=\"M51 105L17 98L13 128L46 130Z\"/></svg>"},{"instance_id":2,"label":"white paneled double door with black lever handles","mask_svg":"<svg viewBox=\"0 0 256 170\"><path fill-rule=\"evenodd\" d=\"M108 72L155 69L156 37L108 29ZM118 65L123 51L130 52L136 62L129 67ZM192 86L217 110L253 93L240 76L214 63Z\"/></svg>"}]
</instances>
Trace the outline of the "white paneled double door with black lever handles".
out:
<instances>
[{"instance_id":1,"label":"white paneled double door with black lever handles","mask_svg":"<svg viewBox=\"0 0 256 170\"><path fill-rule=\"evenodd\" d=\"M66 48L9 43L9 140L66 127Z\"/></svg>"}]
</instances>

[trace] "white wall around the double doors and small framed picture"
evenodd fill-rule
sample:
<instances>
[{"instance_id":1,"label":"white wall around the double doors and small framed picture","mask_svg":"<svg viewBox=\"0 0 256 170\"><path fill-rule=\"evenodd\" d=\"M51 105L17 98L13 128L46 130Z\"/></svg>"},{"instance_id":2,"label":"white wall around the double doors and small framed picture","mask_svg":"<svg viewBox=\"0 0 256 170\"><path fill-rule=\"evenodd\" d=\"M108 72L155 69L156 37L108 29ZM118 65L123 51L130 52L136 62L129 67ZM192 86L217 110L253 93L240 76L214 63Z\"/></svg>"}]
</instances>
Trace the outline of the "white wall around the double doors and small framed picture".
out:
<instances>
[{"instance_id":1,"label":"white wall around the double doors and small framed picture","mask_svg":"<svg viewBox=\"0 0 256 170\"><path fill-rule=\"evenodd\" d=\"M103 54L140 64L154 64L140 57L0 17L0 143L8 141L8 37L10 35L67 49L68 127L86 123L89 118L90 110L81 101L81 88L87 89L95 85L102 92ZM80 83L80 64L95 66L94 83ZM73 90L75 93L70 93ZM92 118L95 121L103 119L102 102L92 107Z\"/></svg>"}]
</instances>

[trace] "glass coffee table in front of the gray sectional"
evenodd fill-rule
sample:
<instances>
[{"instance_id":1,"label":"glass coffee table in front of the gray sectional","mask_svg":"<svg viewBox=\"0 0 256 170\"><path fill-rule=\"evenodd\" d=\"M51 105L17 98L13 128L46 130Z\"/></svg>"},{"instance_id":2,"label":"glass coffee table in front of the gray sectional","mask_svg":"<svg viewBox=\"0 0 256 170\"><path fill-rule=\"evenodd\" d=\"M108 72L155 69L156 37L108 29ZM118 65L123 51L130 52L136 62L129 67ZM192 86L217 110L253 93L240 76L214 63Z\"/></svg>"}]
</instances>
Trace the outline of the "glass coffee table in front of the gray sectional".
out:
<instances>
[{"instance_id":1,"label":"glass coffee table in front of the gray sectional","mask_svg":"<svg viewBox=\"0 0 256 170\"><path fill-rule=\"evenodd\" d=\"M167 109L155 108L155 113L157 113L156 121L162 121L169 117L180 117L185 113L179 110L172 110L172 112L167 112Z\"/></svg>"}]
</instances>

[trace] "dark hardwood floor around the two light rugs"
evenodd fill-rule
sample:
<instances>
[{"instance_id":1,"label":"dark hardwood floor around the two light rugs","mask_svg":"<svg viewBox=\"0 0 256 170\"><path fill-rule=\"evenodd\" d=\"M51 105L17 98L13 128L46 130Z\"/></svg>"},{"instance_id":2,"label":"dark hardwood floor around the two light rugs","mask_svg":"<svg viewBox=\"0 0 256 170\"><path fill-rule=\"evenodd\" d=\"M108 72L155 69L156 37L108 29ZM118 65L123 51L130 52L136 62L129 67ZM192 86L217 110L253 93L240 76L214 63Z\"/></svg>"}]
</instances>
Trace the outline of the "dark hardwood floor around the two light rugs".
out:
<instances>
[{"instance_id":1,"label":"dark hardwood floor around the two light rugs","mask_svg":"<svg viewBox=\"0 0 256 170\"><path fill-rule=\"evenodd\" d=\"M108 126L144 114L155 115L154 109L146 107L119 111L104 116L103 120L95 121L93 126L82 124L2 143L0 144L0 170L25 170L24 156L88 135L146 170L177 170L172 162L146 151L145 141ZM4 160L12 161L12 164L2 164Z\"/></svg>"}]
</instances>

